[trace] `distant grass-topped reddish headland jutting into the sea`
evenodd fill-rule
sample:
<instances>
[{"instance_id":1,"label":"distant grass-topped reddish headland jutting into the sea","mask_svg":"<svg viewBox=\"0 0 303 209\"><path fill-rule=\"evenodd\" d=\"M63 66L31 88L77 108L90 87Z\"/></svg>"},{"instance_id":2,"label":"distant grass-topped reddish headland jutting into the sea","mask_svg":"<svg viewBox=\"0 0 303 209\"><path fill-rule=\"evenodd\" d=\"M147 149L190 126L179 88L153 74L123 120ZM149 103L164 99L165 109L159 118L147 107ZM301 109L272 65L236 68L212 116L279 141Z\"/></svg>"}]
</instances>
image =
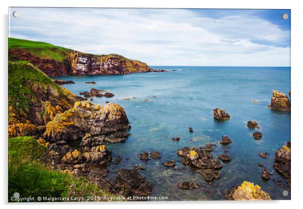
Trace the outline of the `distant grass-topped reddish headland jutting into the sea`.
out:
<instances>
[{"instance_id":1,"label":"distant grass-topped reddish headland jutting into the sea","mask_svg":"<svg viewBox=\"0 0 303 209\"><path fill-rule=\"evenodd\" d=\"M9 38L9 60L26 60L49 76L153 71L146 63L116 54L86 54L43 42L14 38Z\"/></svg>"}]
</instances>

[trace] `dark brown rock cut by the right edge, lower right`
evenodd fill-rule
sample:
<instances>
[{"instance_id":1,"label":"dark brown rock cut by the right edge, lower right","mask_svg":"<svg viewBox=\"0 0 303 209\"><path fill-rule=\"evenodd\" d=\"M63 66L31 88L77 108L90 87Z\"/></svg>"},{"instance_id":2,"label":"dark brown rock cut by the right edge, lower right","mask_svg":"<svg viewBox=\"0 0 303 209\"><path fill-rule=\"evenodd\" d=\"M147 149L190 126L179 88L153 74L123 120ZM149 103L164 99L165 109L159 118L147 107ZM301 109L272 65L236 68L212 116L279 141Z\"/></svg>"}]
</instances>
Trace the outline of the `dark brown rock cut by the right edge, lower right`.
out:
<instances>
[{"instance_id":1,"label":"dark brown rock cut by the right edge, lower right","mask_svg":"<svg viewBox=\"0 0 303 209\"><path fill-rule=\"evenodd\" d=\"M274 169L284 176L287 185L290 187L291 178L291 150L289 147L283 145L275 155Z\"/></svg>"}]
</instances>

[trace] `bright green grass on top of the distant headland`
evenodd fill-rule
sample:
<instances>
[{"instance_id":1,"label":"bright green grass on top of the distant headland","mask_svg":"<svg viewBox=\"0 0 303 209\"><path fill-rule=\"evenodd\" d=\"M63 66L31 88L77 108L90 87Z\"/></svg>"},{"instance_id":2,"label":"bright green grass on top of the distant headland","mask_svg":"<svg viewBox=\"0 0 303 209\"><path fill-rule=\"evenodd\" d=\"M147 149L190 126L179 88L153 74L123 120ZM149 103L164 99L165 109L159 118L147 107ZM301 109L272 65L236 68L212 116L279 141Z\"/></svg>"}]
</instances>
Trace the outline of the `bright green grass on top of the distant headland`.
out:
<instances>
[{"instance_id":1,"label":"bright green grass on top of the distant headland","mask_svg":"<svg viewBox=\"0 0 303 209\"><path fill-rule=\"evenodd\" d=\"M69 49L55 46L49 43L9 38L9 50L16 48L31 52L36 57L43 59L53 59L59 62L67 59L68 54L70 53Z\"/></svg>"}]
</instances>

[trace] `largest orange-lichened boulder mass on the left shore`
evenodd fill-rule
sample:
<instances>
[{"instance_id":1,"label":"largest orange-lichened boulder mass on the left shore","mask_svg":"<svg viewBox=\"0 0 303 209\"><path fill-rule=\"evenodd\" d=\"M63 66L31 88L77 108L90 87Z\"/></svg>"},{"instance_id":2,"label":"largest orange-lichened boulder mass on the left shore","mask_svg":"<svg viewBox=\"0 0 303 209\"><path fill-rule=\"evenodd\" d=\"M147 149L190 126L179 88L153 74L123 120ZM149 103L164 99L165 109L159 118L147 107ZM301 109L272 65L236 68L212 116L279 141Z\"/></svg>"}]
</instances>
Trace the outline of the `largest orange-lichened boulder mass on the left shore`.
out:
<instances>
[{"instance_id":1,"label":"largest orange-lichened boulder mass on the left shore","mask_svg":"<svg viewBox=\"0 0 303 209\"><path fill-rule=\"evenodd\" d=\"M115 103L100 107L90 101L78 101L72 109L57 114L46 125L44 138L49 141L76 140L85 134L105 135L129 129L124 109Z\"/></svg>"}]
</instances>

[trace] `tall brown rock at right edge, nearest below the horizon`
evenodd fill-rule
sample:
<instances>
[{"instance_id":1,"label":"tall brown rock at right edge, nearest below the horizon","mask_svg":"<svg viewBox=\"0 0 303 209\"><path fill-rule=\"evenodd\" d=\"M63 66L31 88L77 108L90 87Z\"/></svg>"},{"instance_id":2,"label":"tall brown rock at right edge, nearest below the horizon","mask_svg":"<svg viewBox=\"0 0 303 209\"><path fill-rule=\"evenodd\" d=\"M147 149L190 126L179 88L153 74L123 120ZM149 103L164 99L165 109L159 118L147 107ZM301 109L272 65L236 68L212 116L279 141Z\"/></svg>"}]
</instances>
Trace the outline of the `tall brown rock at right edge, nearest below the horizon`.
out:
<instances>
[{"instance_id":1,"label":"tall brown rock at right edge, nearest below the horizon","mask_svg":"<svg viewBox=\"0 0 303 209\"><path fill-rule=\"evenodd\" d=\"M286 94L277 90L272 90L272 92L273 94L268 107L275 110L290 111L290 102Z\"/></svg>"}]
</instances>

